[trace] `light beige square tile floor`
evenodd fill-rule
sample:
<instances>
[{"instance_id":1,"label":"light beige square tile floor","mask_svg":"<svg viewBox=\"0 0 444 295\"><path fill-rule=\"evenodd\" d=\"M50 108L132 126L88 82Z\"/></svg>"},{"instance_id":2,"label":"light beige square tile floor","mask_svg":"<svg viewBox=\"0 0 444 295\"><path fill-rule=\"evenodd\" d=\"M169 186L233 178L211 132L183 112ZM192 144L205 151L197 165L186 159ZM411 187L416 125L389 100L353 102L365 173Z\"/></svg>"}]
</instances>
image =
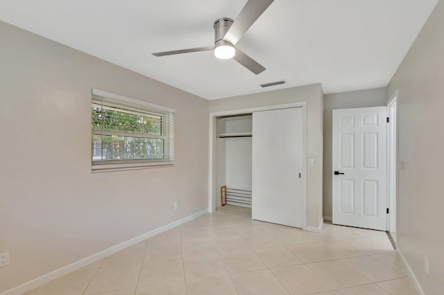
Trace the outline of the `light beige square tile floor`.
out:
<instances>
[{"instance_id":1,"label":"light beige square tile floor","mask_svg":"<svg viewBox=\"0 0 444 295\"><path fill-rule=\"evenodd\" d=\"M417 293L384 232L310 233L226 206L26 294Z\"/></svg>"}]
</instances>

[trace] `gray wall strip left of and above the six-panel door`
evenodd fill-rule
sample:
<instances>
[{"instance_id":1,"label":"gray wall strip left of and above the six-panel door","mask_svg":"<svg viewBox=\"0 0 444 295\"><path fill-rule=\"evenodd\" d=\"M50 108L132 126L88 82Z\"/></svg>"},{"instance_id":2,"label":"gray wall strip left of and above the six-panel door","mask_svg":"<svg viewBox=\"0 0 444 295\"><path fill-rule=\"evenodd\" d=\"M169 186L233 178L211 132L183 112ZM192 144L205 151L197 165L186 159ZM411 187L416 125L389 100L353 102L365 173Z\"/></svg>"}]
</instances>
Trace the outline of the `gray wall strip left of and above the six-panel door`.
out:
<instances>
[{"instance_id":1,"label":"gray wall strip left of and above the six-panel door","mask_svg":"<svg viewBox=\"0 0 444 295\"><path fill-rule=\"evenodd\" d=\"M387 89L325 94L324 96L324 217L332 217L332 110L386 105Z\"/></svg>"}]
</instances>

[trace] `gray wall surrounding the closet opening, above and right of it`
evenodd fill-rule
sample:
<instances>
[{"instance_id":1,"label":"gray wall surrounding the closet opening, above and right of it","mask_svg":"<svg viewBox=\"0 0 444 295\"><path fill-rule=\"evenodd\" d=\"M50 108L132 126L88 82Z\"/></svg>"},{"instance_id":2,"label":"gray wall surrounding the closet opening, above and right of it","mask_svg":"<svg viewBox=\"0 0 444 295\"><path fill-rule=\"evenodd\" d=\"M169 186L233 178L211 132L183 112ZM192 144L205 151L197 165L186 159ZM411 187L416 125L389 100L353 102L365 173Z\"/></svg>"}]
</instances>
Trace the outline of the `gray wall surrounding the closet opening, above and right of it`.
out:
<instances>
[{"instance_id":1,"label":"gray wall surrounding the closet opening, above and right of it","mask_svg":"<svg viewBox=\"0 0 444 295\"><path fill-rule=\"evenodd\" d=\"M307 157L314 159L315 163L313 167L307 166L307 226L318 227L323 213L323 91L321 84L210 100L210 112L282 105L291 102L307 102ZM216 143L213 145L216 146ZM213 157L216 155L214 154ZM216 194L215 191L214 194Z\"/></svg>"}]
</instances>

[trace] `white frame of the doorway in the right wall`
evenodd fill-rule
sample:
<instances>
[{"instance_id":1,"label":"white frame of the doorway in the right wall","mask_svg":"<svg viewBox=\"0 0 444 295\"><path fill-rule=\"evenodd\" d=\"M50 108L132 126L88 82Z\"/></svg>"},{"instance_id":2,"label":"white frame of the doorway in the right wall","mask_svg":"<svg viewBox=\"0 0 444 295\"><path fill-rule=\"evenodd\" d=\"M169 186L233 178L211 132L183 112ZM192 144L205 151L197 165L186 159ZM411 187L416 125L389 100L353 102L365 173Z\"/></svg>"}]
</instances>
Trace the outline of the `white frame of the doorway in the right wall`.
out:
<instances>
[{"instance_id":1,"label":"white frame of the doorway in the right wall","mask_svg":"<svg viewBox=\"0 0 444 295\"><path fill-rule=\"evenodd\" d=\"M391 98L387 101L387 116L390 118L387 124L387 232L391 237L393 247L396 248L398 244L398 97L399 93L396 90ZM395 119L391 118L390 110L395 106ZM394 132L392 124L395 124ZM391 145L392 139L395 139L395 147ZM394 154L395 157L392 157ZM394 175L392 174L394 168ZM395 188L393 193L392 188ZM395 233L393 237L392 233Z\"/></svg>"}]
</instances>

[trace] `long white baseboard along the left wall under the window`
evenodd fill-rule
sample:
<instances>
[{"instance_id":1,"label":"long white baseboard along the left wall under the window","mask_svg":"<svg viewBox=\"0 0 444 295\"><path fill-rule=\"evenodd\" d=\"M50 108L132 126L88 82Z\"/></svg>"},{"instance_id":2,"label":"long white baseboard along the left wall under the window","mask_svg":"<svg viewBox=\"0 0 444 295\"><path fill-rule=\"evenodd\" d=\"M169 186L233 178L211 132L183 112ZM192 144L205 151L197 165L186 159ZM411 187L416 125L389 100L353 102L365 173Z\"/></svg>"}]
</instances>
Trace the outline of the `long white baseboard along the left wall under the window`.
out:
<instances>
[{"instance_id":1,"label":"long white baseboard along the left wall under the window","mask_svg":"<svg viewBox=\"0 0 444 295\"><path fill-rule=\"evenodd\" d=\"M194 220L195 218L204 215L208 213L208 209L205 209L203 211L199 211L198 213L194 213L192 215L189 215L187 217L184 217L180 220L176 220L175 222L171 222L170 224L167 224L165 226L161 226L157 229L154 229L153 231L149 231L148 233L144 233L142 235L139 235L135 238L132 238L130 240L127 240L125 242L121 242L120 244L117 244L113 247L110 247L108 249L105 249L103 251L100 251L98 253L92 254L92 256L88 256L87 258L83 258L82 260L78 260L76 262L71 263L70 265L67 265L65 267L61 267L60 269L56 269L55 271L51 271L48 274L44 274L43 276L40 276L39 278L35 278L33 280L30 280L29 282L26 282L22 285L19 285L17 287L14 287L12 289L6 290L0 295L20 295L24 292L28 292L31 289L34 289L36 287L39 287L41 285L44 285L51 280L54 280L56 278L60 278L61 276L65 276L72 271L76 271L77 269L80 269L82 267L85 267L92 262L96 262L97 260L101 260L102 258L105 258L107 256L110 256L111 254L117 253L121 251L122 249L125 249L127 247L133 246L134 244L137 244L139 242L142 242L148 238L153 237L154 235L157 235L159 233L163 233L164 231L168 231L169 229L173 229L174 227L184 224L185 222L189 222L190 220Z\"/></svg>"}]
</instances>

